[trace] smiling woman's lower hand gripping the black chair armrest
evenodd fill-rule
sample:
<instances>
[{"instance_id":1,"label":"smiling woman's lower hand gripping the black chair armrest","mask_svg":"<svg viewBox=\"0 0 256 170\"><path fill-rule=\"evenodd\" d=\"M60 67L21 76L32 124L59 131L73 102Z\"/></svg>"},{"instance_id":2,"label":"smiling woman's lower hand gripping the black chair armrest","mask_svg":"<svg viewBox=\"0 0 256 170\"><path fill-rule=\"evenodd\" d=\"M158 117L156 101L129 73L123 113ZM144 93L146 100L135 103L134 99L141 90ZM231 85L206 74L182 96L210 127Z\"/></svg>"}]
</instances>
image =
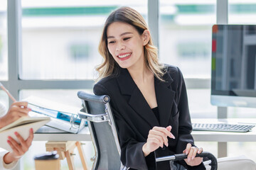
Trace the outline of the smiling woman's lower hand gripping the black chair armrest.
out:
<instances>
[{"instance_id":1,"label":"smiling woman's lower hand gripping the black chair armrest","mask_svg":"<svg viewBox=\"0 0 256 170\"><path fill-rule=\"evenodd\" d=\"M186 149L183 150L183 154L187 154L188 158L184 159L189 166L197 166L203 162L202 157L196 157L196 154L201 154L203 148L192 147L190 143L187 144Z\"/></svg>"}]
</instances>

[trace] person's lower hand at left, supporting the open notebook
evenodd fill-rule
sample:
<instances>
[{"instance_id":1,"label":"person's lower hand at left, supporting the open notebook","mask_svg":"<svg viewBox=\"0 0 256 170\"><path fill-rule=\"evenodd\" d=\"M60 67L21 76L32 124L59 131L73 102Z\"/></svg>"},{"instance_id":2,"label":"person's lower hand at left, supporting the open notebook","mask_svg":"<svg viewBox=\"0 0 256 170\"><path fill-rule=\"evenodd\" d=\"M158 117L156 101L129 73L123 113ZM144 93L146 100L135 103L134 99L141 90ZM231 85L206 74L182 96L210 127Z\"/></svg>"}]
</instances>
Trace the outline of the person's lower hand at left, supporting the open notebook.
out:
<instances>
[{"instance_id":1,"label":"person's lower hand at left, supporting the open notebook","mask_svg":"<svg viewBox=\"0 0 256 170\"><path fill-rule=\"evenodd\" d=\"M12 137L8 137L9 140L7 142L9 143L11 149L13 149L12 152L8 152L4 155L4 162L6 164L10 164L11 162L17 161L19 158L22 157L23 154L25 154L28 151L28 148L31 146L32 140L33 140L33 129L31 128L29 130L29 136L28 139L24 140L21 135L18 134L18 132L14 133L16 137L18 138L18 142L14 140Z\"/></svg>"}]
</instances>

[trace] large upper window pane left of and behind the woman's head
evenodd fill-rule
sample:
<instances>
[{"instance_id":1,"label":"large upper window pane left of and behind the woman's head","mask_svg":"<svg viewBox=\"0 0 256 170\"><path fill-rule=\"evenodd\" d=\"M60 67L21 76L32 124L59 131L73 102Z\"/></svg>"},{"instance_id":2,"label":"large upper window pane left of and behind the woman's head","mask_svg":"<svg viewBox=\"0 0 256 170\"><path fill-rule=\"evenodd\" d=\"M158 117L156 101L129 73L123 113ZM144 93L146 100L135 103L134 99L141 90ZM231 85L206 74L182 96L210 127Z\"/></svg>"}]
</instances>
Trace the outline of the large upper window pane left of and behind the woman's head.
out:
<instances>
[{"instance_id":1,"label":"large upper window pane left of and behind the woman's head","mask_svg":"<svg viewBox=\"0 0 256 170\"><path fill-rule=\"evenodd\" d=\"M21 79L94 79L107 16L120 6L147 16L147 1L22 0Z\"/></svg>"}]
</instances>

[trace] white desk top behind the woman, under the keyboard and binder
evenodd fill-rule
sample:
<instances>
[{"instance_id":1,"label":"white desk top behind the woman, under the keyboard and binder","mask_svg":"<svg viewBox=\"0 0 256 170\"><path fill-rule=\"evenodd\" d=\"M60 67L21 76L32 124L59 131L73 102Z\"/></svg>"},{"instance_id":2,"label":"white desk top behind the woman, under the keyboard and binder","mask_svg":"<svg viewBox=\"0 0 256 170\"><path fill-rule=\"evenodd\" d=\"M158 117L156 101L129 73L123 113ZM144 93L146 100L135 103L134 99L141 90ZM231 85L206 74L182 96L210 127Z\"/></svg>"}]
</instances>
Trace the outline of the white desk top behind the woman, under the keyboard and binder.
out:
<instances>
[{"instance_id":1,"label":"white desk top behind the woman, under the keyboard and binder","mask_svg":"<svg viewBox=\"0 0 256 170\"><path fill-rule=\"evenodd\" d=\"M256 119L193 119L193 123L215 123L217 121L228 123L252 123L256 124ZM196 131L192 132L194 140L197 142L256 142L256 127L251 132L213 132ZM35 133L36 141L91 141L90 132L87 127L78 134L73 133Z\"/></svg>"}]
</instances>

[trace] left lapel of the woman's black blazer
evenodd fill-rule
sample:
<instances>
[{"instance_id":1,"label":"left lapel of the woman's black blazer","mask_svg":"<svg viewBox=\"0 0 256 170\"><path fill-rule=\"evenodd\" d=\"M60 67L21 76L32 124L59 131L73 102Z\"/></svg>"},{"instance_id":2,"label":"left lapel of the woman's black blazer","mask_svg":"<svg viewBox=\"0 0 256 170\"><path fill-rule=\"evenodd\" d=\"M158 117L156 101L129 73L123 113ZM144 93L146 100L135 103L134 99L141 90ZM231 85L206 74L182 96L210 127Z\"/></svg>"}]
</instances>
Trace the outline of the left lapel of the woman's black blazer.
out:
<instances>
[{"instance_id":1,"label":"left lapel of the woman's black blazer","mask_svg":"<svg viewBox=\"0 0 256 170\"><path fill-rule=\"evenodd\" d=\"M117 82L119 84L120 91L123 95L131 96L129 98L129 106L139 114L151 127L159 126L159 122L154 115L153 111L146 102L146 99L139 91L139 88L133 81L131 75L127 69L121 69L121 74L117 77Z\"/></svg>"}]
</instances>

